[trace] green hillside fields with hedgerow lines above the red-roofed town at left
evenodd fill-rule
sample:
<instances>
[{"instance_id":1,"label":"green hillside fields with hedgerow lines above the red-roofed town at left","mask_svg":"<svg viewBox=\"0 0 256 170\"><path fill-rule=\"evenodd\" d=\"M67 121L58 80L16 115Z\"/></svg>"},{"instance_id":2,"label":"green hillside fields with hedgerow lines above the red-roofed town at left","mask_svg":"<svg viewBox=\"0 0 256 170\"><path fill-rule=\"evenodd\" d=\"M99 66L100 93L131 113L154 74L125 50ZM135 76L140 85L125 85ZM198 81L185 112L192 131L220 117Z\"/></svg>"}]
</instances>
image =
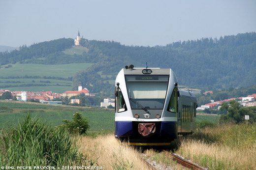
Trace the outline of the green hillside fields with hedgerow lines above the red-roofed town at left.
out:
<instances>
[{"instance_id":1,"label":"green hillside fields with hedgerow lines above the red-roofed town at left","mask_svg":"<svg viewBox=\"0 0 256 170\"><path fill-rule=\"evenodd\" d=\"M1 66L0 88L24 91L49 90L53 92L71 90L73 85L71 77L79 71L86 70L91 65L92 63L58 65L16 63L9 68ZM10 77L18 76L20 78L10 79Z\"/></svg>"}]
</instances>

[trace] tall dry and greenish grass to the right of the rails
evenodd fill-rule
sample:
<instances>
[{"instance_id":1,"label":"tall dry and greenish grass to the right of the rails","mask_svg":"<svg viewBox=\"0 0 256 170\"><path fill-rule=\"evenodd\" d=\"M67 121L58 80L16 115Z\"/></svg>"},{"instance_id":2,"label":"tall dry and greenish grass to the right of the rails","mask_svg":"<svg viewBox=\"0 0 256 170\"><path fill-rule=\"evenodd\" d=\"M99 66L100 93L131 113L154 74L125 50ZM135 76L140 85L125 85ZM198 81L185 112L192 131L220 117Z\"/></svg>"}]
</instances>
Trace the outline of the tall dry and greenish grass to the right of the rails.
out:
<instances>
[{"instance_id":1,"label":"tall dry and greenish grass to the right of the rails","mask_svg":"<svg viewBox=\"0 0 256 170\"><path fill-rule=\"evenodd\" d=\"M256 170L256 125L206 128L183 139L177 153L210 170Z\"/></svg>"}]
</instances>

